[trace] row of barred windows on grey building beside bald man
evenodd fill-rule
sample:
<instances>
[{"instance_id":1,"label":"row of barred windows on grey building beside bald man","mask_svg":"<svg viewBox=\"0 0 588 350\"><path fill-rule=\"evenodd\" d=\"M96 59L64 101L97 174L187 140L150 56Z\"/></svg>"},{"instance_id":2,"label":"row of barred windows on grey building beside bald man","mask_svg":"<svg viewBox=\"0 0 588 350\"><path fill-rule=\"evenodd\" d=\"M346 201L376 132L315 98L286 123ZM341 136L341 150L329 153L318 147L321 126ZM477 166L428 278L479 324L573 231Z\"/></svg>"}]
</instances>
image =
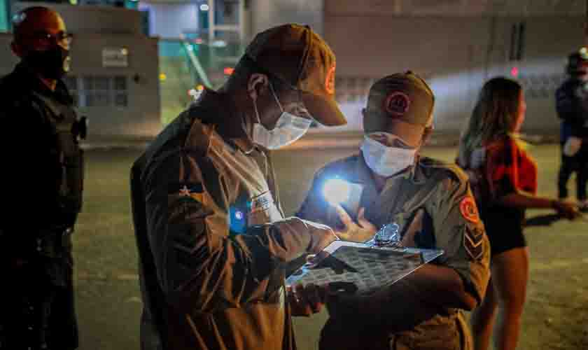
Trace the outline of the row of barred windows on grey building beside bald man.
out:
<instances>
[{"instance_id":1,"label":"row of barred windows on grey building beside bald man","mask_svg":"<svg viewBox=\"0 0 588 350\"><path fill-rule=\"evenodd\" d=\"M78 107L126 107L126 76L67 76L65 85Z\"/></svg>"}]
</instances>

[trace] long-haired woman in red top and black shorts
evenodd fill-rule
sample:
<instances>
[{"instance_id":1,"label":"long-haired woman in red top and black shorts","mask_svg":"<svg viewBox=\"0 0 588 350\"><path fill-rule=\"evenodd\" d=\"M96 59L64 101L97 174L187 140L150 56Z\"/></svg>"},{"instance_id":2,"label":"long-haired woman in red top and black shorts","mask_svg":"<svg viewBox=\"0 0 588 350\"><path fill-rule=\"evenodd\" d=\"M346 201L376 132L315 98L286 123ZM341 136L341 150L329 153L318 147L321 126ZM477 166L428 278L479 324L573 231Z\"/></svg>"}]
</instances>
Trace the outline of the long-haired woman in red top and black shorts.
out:
<instances>
[{"instance_id":1,"label":"long-haired woman in red top and black shorts","mask_svg":"<svg viewBox=\"0 0 588 350\"><path fill-rule=\"evenodd\" d=\"M477 350L488 349L497 309L496 349L515 349L528 280L523 235L527 208L553 208L575 218L577 206L536 195L537 166L516 134L525 118L521 85L507 78L484 84L459 146L458 163L470 175L492 251L491 281L472 314Z\"/></svg>"}]
</instances>

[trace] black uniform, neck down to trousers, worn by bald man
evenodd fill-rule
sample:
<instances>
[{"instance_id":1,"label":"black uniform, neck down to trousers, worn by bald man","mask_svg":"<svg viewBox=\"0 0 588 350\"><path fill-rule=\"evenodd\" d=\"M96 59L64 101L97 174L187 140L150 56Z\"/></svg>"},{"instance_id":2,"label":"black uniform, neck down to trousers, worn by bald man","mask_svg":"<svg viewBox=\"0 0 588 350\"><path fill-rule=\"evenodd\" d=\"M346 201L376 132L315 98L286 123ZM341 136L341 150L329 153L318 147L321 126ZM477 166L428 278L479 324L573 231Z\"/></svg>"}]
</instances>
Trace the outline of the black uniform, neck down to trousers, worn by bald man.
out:
<instances>
[{"instance_id":1,"label":"black uniform, neck down to trousers, worn by bald man","mask_svg":"<svg viewBox=\"0 0 588 350\"><path fill-rule=\"evenodd\" d=\"M56 106L63 113L56 114ZM59 118L68 125L76 120L62 81L52 91L24 64L0 80L0 269L8 269L3 276L10 286L1 292L6 304L0 342L6 337L6 349L36 349L47 342L51 349L78 346L70 235L81 205L83 163L73 135L57 130L64 125ZM73 196L65 193L69 170L60 152L59 137L63 141L66 134L76 153ZM17 260L26 263L15 268Z\"/></svg>"}]
</instances>

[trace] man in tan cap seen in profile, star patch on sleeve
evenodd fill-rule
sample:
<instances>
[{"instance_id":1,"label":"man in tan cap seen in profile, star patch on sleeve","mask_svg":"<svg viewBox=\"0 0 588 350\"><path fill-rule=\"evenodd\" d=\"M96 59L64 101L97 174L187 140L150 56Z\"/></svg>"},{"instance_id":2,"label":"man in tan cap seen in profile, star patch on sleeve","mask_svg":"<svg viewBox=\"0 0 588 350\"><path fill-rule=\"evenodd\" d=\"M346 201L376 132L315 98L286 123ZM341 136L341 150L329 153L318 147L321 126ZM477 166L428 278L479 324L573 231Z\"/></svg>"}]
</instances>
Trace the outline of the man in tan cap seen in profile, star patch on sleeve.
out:
<instances>
[{"instance_id":1,"label":"man in tan cap seen in profile, star patch on sleeve","mask_svg":"<svg viewBox=\"0 0 588 350\"><path fill-rule=\"evenodd\" d=\"M283 218L267 150L312 120L346 123L335 56L309 27L282 25L258 34L228 82L134 163L141 349L295 349L285 265L337 236Z\"/></svg>"}]
</instances>

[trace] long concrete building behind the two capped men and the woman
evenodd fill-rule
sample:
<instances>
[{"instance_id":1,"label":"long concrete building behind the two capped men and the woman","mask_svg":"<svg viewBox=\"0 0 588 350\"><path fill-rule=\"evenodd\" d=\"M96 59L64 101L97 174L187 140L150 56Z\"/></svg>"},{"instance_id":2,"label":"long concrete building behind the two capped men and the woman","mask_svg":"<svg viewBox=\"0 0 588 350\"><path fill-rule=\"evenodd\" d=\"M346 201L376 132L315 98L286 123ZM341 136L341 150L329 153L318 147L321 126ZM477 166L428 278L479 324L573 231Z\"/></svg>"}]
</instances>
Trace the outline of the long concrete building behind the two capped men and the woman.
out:
<instances>
[{"instance_id":1,"label":"long concrete building behind the two capped men and the woman","mask_svg":"<svg viewBox=\"0 0 588 350\"><path fill-rule=\"evenodd\" d=\"M170 0L148 0L185 6ZM200 1L200 4L204 1ZM311 25L337 55L337 99L349 125L314 132L360 132L367 89L381 76L412 69L437 96L437 132L458 134L485 80L517 78L525 87L524 131L556 134L554 90L567 55L584 44L580 0L208 0L242 5L243 43L286 22ZM217 15L217 21L235 24ZM200 17L202 18L202 17ZM202 27L202 26L201 26ZM201 33L203 38L207 32ZM228 62L231 64L231 62ZM218 70L218 69L217 69ZM216 79L218 80L218 79Z\"/></svg>"}]
</instances>

